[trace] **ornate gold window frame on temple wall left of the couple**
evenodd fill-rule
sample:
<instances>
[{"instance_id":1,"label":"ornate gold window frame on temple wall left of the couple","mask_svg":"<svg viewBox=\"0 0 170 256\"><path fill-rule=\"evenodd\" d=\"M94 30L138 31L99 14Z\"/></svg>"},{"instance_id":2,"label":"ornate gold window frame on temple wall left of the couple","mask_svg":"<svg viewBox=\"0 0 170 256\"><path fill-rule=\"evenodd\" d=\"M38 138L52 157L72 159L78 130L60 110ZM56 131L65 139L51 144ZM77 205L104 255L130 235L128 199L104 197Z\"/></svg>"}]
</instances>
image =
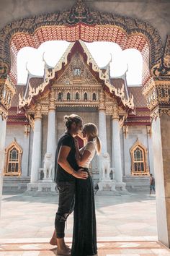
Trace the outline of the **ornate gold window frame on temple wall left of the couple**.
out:
<instances>
[{"instance_id":1,"label":"ornate gold window frame on temple wall left of the couple","mask_svg":"<svg viewBox=\"0 0 170 256\"><path fill-rule=\"evenodd\" d=\"M18 161L15 163L18 163L18 171L17 172L8 172L8 165L9 165L9 157L10 152L13 148L16 148L18 150ZM14 138L14 141L5 149L5 166L4 166L4 176L20 176L22 173L21 170L21 160L22 160L22 148L18 145L16 139Z\"/></svg>"}]
</instances>

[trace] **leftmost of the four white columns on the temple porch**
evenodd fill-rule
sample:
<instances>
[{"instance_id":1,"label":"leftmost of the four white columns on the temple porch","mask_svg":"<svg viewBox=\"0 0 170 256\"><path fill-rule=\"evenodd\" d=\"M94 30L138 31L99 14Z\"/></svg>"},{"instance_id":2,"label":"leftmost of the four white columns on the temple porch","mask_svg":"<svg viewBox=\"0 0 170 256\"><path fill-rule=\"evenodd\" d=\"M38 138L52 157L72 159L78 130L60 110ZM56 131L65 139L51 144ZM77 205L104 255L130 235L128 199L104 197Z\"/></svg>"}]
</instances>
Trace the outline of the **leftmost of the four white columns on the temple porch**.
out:
<instances>
[{"instance_id":1,"label":"leftmost of the four white columns on the temple porch","mask_svg":"<svg viewBox=\"0 0 170 256\"><path fill-rule=\"evenodd\" d=\"M38 180L38 168L41 161L41 139L42 139L42 116L40 112L35 114L35 127L32 145L32 166L31 166L31 183Z\"/></svg>"}]
</instances>

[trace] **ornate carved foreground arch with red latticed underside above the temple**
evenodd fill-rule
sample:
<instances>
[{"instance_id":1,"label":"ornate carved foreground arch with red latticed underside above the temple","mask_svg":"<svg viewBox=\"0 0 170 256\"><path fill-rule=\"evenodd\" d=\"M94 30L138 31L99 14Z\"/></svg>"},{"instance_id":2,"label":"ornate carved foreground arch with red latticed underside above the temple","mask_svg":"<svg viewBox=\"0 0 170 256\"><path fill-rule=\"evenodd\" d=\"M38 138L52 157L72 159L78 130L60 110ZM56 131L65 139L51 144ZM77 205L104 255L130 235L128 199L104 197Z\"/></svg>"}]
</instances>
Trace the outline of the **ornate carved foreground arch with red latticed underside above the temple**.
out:
<instances>
[{"instance_id":1,"label":"ornate carved foreground arch with red latticed underside above the temple","mask_svg":"<svg viewBox=\"0 0 170 256\"><path fill-rule=\"evenodd\" d=\"M148 22L97 12L86 7L81 0L64 12L40 14L14 21L0 30L0 38L0 76L6 77L9 74L13 82L17 78L19 49L24 46L38 48L46 40L104 40L118 43L122 49L137 48L143 55L146 80L150 76L147 64L151 69L163 56L161 37Z\"/></svg>"}]
</instances>

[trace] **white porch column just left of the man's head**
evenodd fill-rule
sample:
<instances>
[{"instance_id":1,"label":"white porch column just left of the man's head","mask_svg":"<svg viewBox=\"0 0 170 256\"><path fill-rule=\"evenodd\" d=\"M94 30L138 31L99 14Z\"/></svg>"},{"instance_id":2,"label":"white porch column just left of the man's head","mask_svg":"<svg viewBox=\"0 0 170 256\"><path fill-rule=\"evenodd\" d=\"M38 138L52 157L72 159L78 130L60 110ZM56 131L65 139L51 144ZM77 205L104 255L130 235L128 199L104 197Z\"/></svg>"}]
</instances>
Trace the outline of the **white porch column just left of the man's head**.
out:
<instances>
[{"instance_id":1,"label":"white porch column just left of the man's head","mask_svg":"<svg viewBox=\"0 0 170 256\"><path fill-rule=\"evenodd\" d=\"M55 109L50 109L48 112L48 141L47 152L55 156Z\"/></svg>"}]
</instances>

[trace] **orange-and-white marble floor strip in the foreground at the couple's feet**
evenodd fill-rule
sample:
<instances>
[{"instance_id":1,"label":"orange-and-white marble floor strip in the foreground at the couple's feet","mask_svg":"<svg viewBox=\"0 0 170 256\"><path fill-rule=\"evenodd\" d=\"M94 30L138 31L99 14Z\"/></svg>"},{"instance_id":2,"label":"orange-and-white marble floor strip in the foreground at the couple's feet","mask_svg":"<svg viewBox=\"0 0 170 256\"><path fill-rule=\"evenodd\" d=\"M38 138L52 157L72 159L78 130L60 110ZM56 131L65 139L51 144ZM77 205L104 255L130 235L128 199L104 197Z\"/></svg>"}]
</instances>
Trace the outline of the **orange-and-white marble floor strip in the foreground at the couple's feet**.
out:
<instances>
[{"instance_id":1,"label":"orange-and-white marble floor strip in the foreground at the couple's feet","mask_svg":"<svg viewBox=\"0 0 170 256\"><path fill-rule=\"evenodd\" d=\"M70 243L68 245L71 246ZM170 255L158 242L99 242L98 256L151 256ZM56 247L45 242L1 244L0 256L53 256L57 255Z\"/></svg>"}]
</instances>

